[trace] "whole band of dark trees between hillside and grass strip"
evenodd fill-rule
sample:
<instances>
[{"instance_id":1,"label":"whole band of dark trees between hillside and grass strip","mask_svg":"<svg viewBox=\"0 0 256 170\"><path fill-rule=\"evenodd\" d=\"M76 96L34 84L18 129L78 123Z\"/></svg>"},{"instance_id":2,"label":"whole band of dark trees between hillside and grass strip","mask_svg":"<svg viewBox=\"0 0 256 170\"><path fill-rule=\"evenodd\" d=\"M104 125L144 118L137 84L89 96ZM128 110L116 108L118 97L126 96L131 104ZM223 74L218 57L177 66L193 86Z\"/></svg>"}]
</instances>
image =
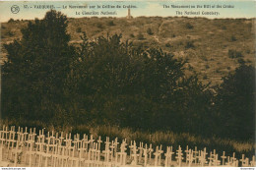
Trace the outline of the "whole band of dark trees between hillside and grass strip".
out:
<instances>
[{"instance_id":1,"label":"whole band of dark trees between hillside and grass strip","mask_svg":"<svg viewBox=\"0 0 256 170\"><path fill-rule=\"evenodd\" d=\"M89 40L84 32L75 47L67 26L65 16L50 11L29 22L21 40L4 45L4 118L17 125L39 120L77 130L111 125L254 141L254 67L241 63L213 90L196 75L186 76L186 62L171 53L134 46L121 34ZM192 47L188 41L186 48Z\"/></svg>"}]
</instances>

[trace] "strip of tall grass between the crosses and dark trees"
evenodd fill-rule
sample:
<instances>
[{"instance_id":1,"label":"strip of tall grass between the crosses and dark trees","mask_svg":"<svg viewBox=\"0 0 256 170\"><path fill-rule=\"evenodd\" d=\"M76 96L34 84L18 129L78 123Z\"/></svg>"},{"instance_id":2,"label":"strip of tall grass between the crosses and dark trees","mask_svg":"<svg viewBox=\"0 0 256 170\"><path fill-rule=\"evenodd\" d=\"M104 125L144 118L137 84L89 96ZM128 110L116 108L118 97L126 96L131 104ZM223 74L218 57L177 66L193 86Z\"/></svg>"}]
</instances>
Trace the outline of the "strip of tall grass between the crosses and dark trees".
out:
<instances>
[{"instance_id":1,"label":"strip of tall grass between the crosses and dark trees","mask_svg":"<svg viewBox=\"0 0 256 170\"><path fill-rule=\"evenodd\" d=\"M226 155L232 155L233 152L235 152L236 158L240 158L241 154L245 154L247 157L251 157L252 155L255 155L255 142L237 142L234 140L229 139L220 139L216 137L212 138L202 138L200 136L194 136L187 133L181 133L176 134L171 131L156 131L156 132L142 132L142 131L133 131L129 128L119 128L116 126L111 125L80 125L76 127L72 126L63 126L63 127L54 127L52 125L48 125L45 123L42 123L40 121L21 121L22 123L18 123L17 121L7 121L2 120L0 121L0 127L2 128L3 125L6 126L16 126L16 130L18 129L18 126L21 126L23 128L34 128L36 127L36 134L38 134L38 131L45 128L45 132L52 132L55 133L71 133L72 137L75 134L80 134L81 137L83 137L84 134L86 135L93 135L94 139L97 139L99 136L103 141L106 137L109 137L110 141L114 140L115 138L118 138L118 142L121 142L121 140L126 139L128 143L131 141L136 141L137 144L139 142L144 142L153 144L153 147L156 147L157 145L162 144L162 148L165 151L166 146L173 146L173 149L177 149L178 145L182 147L184 150L186 146L188 145L189 148L194 149L195 146L200 149L204 149L204 147L207 148L208 153L210 154L210 151L213 151L216 149L217 153L219 155L223 155L223 151L225 151ZM1 129L0 128L0 129ZM46 133L45 133L46 134Z\"/></svg>"}]
</instances>

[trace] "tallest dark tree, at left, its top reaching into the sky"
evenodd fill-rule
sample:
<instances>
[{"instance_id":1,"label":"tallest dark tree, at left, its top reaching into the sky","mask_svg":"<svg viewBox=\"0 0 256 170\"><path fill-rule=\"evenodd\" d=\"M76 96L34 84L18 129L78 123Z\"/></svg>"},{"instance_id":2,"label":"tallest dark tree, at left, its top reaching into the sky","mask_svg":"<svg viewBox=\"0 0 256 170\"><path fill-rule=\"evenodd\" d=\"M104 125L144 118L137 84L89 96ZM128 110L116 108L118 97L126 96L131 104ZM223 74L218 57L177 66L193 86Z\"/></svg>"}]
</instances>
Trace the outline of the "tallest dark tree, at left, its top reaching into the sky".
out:
<instances>
[{"instance_id":1,"label":"tallest dark tree, at left, its top reaching into the sky","mask_svg":"<svg viewBox=\"0 0 256 170\"><path fill-rule=\"evenodd\" d=\"M75 60L68 44L67 18L49 11L22 29L23 37L5 44L2 112L17 118L49 120L63 101L67 74Z\"/></svg>"}]
</instances>

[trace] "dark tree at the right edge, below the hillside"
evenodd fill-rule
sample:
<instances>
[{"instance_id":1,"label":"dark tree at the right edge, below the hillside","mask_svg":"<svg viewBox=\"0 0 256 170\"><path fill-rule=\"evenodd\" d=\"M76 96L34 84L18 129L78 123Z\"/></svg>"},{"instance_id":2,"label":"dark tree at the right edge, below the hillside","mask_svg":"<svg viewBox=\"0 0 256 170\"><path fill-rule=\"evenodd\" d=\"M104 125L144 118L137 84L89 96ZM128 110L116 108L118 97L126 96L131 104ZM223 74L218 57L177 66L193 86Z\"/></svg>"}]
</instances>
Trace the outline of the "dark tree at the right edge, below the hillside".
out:
<instances>
[{"instance_id":1,"label":"dark tree at the right edge, below the hillside","mask_svg":"<svg viewBox=\"0 0 256 170\"><path fill-rule=\"evenodd\" d=\"M241 64L223 78L216 101L220 113L221 135L231 139L254 140L255 68Z\"/></svg>"}]
</instances>

